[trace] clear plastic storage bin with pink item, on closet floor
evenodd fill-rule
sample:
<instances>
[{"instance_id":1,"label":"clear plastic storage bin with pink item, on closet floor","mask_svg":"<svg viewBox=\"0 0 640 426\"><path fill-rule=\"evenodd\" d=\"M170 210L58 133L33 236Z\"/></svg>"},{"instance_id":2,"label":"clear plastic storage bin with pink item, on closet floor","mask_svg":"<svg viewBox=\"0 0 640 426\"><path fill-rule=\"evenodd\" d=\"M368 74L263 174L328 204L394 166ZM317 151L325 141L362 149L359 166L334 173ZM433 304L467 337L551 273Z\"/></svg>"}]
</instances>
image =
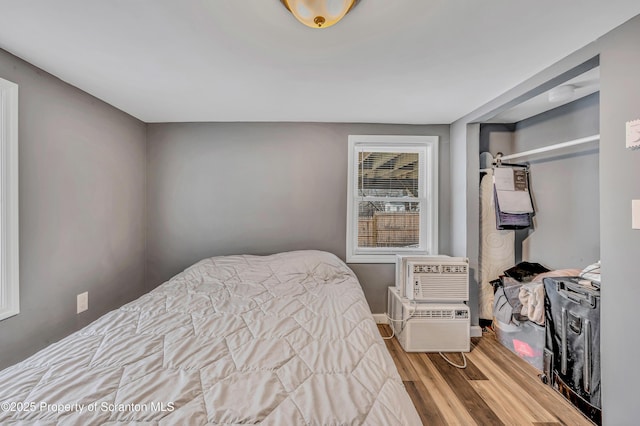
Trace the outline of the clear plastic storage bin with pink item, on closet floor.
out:
<instances>
[{"instance_id":1,"label":"clear plastic storage bin with pink item, on closet floor","mask_svg":"<svg viewBox=\"0 0 640 426\"><path fill-rule=\"evenodd\" d=\"M494 320L493 324L496 338L503 346L542 371L542 354L545 342L543 326L531 321L516 325Z\"/></svg>"}]
</instances>

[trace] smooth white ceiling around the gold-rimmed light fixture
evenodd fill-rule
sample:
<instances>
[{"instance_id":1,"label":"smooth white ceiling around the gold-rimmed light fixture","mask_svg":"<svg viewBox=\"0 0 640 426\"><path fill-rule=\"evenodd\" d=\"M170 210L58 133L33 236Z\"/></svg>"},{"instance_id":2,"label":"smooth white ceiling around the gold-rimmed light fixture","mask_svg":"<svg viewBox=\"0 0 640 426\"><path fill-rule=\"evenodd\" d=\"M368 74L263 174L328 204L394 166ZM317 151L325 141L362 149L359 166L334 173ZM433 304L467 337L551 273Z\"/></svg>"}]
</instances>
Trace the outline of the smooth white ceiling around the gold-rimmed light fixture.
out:
<instances>
[{"instance_id":1,"label":"smooth white ceiling around the gold-rimmed light fixture","mask_svg":"<svg viewBox=\"0 0 640 426\"><path fill-rule=\"evenodd\" d=\"M638 0L0 0L0 47L145 122L450 123L640 14Z\"/></svg>"}]
</instances>

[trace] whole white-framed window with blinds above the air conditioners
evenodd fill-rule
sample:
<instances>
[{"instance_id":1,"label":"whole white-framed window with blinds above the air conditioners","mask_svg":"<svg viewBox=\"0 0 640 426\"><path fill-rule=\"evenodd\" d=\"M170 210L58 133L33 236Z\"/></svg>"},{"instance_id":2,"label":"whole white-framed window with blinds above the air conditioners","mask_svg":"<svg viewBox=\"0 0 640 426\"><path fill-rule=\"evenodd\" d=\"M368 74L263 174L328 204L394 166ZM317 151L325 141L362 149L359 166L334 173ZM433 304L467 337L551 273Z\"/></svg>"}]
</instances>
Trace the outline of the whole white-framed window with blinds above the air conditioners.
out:
<instances>
[{"instance_id":1,"label":"whole white-framed window with blinds above the air conditioners","mask_svg":"<svg viewBox=\"0 0 640 426\"><path fill-rule=\"evenodd\" d=\"M347 262L438 248L438 137L349 136Z\"/></svg>"}]
</instances>

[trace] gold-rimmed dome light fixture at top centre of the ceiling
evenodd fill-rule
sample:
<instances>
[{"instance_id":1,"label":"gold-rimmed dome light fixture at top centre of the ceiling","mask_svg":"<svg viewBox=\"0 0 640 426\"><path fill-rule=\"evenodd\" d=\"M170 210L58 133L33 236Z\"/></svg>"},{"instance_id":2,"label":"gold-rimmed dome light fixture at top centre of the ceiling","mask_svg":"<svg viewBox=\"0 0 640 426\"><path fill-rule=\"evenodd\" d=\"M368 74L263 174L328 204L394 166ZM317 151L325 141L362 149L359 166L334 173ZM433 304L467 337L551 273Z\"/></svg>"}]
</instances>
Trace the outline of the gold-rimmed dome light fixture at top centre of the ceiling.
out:
<instances>
[{"instance_id":1,"label":"gold-rimmed dome light fixture at top centre of the ceiling","mask_svg":"<svg viewBox=\"0 0 640 426\"><path fill-rule=\"evenodd\" d=\"M311 28L340 21L360 0L280 0L296 19Z\"/></svg>"}]
</instances>

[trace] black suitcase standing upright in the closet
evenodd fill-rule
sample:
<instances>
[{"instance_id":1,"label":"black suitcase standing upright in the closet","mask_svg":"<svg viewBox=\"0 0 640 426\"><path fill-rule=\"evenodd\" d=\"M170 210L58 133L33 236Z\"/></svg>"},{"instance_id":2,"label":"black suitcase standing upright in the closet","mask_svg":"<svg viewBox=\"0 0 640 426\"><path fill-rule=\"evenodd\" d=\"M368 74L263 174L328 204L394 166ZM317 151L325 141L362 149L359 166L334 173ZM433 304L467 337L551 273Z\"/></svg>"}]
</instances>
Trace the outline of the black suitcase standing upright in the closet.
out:
<instances>
[{"instance_id":1,"label":"black suitcase standing upright in the closet","mask_svg":"<svg viewBox=\"0 0 640 426\"><path fill-rule=\"evenodd\" d=\"M578 277L545 278L544 373L594 423L600 399L600 290Z\"/></svg>"}]
</instances>

